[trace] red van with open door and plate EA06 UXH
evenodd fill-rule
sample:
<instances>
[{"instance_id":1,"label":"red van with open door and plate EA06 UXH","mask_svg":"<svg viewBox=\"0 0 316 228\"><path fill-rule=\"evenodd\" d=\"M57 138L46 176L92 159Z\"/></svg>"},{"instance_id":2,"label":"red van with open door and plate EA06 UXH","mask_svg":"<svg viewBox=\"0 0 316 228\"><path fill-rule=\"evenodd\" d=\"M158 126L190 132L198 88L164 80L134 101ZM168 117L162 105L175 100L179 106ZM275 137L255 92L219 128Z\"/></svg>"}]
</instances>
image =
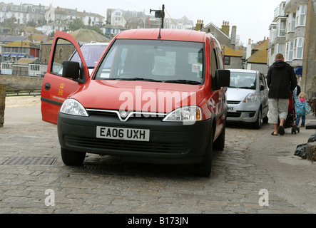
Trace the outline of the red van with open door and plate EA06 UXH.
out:
<instances>
[{"instance_id":1,"label":"red van with open door and plate EA06 UXH","mask_svg":"<svg viewBox=\"0 0 316 228\"><path fill-rule=\"evenodd\" d=\"M68 61L77 51L81 61ZM89 74L76 40L56 32L41 93L44 121L57 124L61 157L86 153L134 162L192 164L210 175L223 150L230 71L218 41L200 31L119 33Z\"/></svg>"}]
</instances>

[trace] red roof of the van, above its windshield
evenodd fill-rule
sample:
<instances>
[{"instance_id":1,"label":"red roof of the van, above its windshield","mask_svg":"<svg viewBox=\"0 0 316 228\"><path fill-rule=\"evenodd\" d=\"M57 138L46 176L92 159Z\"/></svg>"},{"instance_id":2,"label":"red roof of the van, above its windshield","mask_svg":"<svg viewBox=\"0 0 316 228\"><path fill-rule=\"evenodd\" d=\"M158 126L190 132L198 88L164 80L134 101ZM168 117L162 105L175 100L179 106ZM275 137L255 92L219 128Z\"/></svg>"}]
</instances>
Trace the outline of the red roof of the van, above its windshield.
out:
<instances>
[{"instance_id":1,"label":"red roof of the van, above its windshield","mask_svg":"<svg viewBox=\"0 0 316 228\"><path fill-rule=\"evenodd\" d=\"M205 32L180 29L161 29L162 40L203 42ZM139 28L122 31L116 38L157 39L159 28Z\"/></svg>"}]
</instances>

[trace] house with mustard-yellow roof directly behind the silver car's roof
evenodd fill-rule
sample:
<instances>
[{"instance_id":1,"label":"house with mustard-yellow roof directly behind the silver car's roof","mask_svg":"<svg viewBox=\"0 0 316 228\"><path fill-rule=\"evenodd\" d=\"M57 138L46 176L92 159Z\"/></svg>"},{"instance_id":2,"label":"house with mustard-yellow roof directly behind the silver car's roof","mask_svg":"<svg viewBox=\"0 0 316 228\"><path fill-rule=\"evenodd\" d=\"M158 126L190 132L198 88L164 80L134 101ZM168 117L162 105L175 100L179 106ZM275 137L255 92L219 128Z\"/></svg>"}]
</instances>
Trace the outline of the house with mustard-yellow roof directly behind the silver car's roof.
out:
<instances>
[{"instance_id":1,"label":"house with mustard-yellow roof directly behind the silver car's roof","mask_svg":"<svg viewBox=\"0 0 316 228\"><path fill-rule=\"evenodd\" d=\"M267 48L269 40L263 41L251 50L251 56L245 60L245 69L267 73Z\"/></svg>"}]
</instances>

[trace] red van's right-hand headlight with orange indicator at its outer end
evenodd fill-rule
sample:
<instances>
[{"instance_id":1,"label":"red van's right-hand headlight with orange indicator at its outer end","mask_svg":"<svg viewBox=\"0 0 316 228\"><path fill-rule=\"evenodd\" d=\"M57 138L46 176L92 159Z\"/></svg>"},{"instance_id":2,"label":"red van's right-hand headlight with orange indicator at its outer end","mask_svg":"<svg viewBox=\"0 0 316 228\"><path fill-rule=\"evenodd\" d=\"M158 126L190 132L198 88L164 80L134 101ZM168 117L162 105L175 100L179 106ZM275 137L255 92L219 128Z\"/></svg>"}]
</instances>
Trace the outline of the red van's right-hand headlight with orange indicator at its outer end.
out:
<instances>
[{"instance_id":1,"label":"red van's right-hand headlight with orange indicator at its outer end","mask_svg":"<svg viewBox=\"0 0 316 228\"><path fill-rule=\"evenodd\" d=\"M166 122L195 122L200 120L203 120L202 110L197 106L177 108L163 119Z\"/></svg>"}]
</instances>

